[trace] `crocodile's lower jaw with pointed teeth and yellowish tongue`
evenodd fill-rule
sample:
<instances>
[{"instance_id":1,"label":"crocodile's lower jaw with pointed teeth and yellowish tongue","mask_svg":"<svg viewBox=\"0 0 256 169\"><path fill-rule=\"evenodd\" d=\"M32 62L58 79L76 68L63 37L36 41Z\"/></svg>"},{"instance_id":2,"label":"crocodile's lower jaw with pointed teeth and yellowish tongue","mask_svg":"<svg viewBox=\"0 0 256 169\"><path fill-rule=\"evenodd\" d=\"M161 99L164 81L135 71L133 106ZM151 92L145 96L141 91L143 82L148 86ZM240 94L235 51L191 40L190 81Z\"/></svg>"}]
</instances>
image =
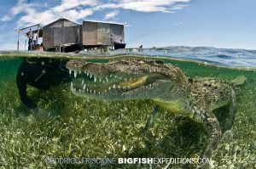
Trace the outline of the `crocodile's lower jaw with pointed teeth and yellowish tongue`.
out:
<instances>
[{"instance_id":1,"label":"crocodile's lower jaw with pointed teeth and yellowish tongue","mask_svg":"<svg viewBox=\"0 0 256 169\"><path fill-rule=\"evenodd\" d=\"M119 82L96 82L75 79L71 82L71 92L76 96L92 99L154 99L168 92L172 81L155 81L147 83L148 76L127 79ZM108 80L110 81L110 80Z\"/></svg>"}]
</instances>

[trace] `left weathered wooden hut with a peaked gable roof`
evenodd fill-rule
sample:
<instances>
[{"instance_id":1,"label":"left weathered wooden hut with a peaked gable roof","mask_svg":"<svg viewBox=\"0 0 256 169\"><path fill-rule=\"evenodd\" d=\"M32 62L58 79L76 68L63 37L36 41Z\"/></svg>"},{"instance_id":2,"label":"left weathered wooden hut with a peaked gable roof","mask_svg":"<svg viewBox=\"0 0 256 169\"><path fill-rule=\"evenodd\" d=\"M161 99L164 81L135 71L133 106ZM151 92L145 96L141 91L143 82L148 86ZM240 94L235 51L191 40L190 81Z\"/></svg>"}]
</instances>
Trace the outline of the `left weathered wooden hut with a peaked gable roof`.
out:
<instances>
[{"instance_id":1,"label":"left weathered wooden hut with a peaked gable roof","mask_svg":"<svg viewBox=\"0 0 256 169\"><path fill-rule=\"evenodd\" d=\"M46 50L58 48L61 51L61 48L81 44L81 25L75 21L61 18L45 25L43 30Z\"/></svg>"}]
</instances>

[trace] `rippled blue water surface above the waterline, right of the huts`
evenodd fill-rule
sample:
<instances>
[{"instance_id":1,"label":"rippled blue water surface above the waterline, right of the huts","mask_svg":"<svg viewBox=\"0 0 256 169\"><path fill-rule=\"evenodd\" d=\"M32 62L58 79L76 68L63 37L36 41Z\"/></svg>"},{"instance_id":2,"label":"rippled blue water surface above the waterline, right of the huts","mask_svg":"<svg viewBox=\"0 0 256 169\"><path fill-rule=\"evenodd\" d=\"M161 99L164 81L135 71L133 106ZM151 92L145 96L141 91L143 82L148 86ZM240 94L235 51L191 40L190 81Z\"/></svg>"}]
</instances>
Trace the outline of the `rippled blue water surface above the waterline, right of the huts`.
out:
<instances>
[{"instance_id":1,"label":"rippled blue water surface above the waterline, right of the huts","mask_svg":"<svg viewBox=\"0 0 256 169\"><path fill-rule=\"evenodd\" d=\"M116 52L115 52L116 53ZM136 54L150 57L173 59L193 59L212 65L256 68L256 50L209 47L166 47L166 48L127 48L122 54Z\"/></svg>"}]
</instances>

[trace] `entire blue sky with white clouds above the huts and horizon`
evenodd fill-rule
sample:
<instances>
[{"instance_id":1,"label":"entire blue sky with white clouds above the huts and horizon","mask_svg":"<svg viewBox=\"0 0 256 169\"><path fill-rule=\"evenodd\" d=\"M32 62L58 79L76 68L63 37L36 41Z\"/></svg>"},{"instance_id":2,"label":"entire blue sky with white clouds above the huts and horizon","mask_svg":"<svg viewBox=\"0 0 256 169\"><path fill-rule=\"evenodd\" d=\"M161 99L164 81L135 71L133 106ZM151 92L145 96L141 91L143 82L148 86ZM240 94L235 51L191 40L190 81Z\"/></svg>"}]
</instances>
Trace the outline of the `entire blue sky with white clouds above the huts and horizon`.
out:
<instances>
[{"instance_id":1,"label":"entire blue sky with white clouds above the huts and horizon","mask_svg":"<svg viewBox=\"0 0 256 169\"><path fill-rule=\"evenodd\" d=\"M1 0L0 50L17 48L15 29L61 17L124 23L128 48L256 49L255 8L255 0Z\"/></svg>"}]
</instances>

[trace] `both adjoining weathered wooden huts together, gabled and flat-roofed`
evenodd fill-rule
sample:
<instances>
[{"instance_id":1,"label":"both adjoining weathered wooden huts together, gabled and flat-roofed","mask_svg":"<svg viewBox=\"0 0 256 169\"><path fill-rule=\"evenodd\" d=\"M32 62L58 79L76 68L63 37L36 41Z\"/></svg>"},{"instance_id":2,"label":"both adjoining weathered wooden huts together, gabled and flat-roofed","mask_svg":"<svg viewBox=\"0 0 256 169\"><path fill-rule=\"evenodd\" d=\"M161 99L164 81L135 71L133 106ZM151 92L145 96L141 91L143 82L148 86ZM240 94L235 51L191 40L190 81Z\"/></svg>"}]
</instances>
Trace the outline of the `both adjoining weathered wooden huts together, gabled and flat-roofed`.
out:
<instances>
[{"instance_id":1,"label":"both adjoining weathered wooden huts together, gabled and flat-roofed","mask_svg":"<svg viewBox=\"0 0 256 169\"><path fill-rule=\"evenodd\" d=\"M84 48L113 47L114 42L125 42L124 24L84 20L79 24L61 18L45 25L43 43L46 50L73 52Z\"/></svg>"}]
</instances>

